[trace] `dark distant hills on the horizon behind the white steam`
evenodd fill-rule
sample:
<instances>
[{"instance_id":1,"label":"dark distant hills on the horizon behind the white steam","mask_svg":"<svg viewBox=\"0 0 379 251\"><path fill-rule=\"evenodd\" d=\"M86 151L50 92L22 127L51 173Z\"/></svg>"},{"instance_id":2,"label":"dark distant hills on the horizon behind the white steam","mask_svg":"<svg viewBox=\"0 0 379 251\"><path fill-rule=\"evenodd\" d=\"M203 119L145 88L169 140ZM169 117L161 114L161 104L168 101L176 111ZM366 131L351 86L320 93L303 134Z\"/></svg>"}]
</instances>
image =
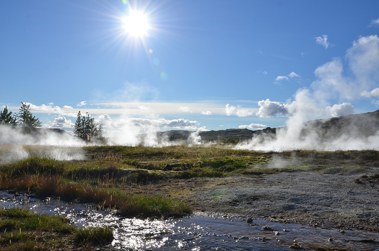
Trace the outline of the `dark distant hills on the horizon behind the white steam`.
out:
<instances>
[{"instance_id":1,"label":"dark distant hills on the horizon behind the white steam","mask_svg":"<svg viewBox=\"0 0 379 251\"><path fill-rule=\"evenodd\" d=\"M285 130L286 127L281 127ZM207 141L222 141L228 139L250 140L253 135L262 133L275 136L276 128L267 127L263 130L249 129L226 129L226 130L211 130L199 132L202 142ZM320 138L338 138L343 134L354 136L371 136L375 135L379 130L379 110L340 116L336 118L316 119L307 121L304 124L302 133L316 133ZM188 137L194 131L186 130L170 130L165 132L157 132L158 139L166 138L167 140L188 140Z\"/></svg>"}]
</instances>

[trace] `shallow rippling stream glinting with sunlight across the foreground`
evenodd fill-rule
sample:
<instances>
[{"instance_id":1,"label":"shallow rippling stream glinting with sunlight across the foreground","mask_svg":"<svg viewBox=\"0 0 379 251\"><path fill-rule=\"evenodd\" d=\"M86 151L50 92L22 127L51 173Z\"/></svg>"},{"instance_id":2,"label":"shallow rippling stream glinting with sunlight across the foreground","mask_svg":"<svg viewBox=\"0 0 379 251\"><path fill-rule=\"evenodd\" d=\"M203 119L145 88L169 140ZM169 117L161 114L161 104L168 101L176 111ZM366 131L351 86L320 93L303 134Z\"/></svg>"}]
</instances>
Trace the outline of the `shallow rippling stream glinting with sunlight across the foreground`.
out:
<instances>
[{"instance_id":1,"label":"shallow rippling stream glinting with sunlight across the foreground","mask_svg":"<svg viewBox=\"0 0 379 251\"><path fill-rule=\"evenodd\" d=\"M299 224L224 218L196 213L184 218L122 218L93 205L44 200L0 191L0 206L26 207L38 213L64 215L79 227L108 226L119 250L288 250L297 243L307 250L379 251L379 234L368 231L322 229ZM263 230L264 226L269 229ZM362 241L363 240L363 241ZM290 249L291 250L291 249Z\"/></svg>"}]
</instances>

